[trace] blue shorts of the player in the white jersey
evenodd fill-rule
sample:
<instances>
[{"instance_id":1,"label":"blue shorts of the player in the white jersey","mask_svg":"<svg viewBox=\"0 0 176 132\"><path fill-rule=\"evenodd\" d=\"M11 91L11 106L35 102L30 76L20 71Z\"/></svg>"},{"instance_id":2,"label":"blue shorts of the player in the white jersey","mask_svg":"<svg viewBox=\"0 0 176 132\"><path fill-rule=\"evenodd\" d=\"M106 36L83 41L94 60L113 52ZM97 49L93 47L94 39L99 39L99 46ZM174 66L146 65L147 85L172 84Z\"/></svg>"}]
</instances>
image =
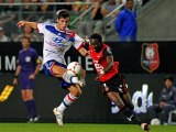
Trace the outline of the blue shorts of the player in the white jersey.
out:
<instances>
[{"instance_id":1,"label":"blue shorts of the player in the white jersey","mask_svg":"<svg viewBox=\"0 0 176 132\"><path fill-rule=\"evenodd\" d=\"M51 77L56 77L56 76L53 74L53 72L52 72L52 68L53 68L54 65L57 65L57 66L61 66L61 67L64 67L64 68L67 67L66 65L61 64L61 63L58 63L58 62L56 62L56 61L48 61L48 62L46 62L46 63L43 65L43 70L44 70L45 75L51 76ZM57 78L58 78L58 77L57 77ZM72 85L74 85L74 84L66 82L63 78L58 78L58 80L62 81L62 82L61 82L61 86L62 86L62 88L64 88L64 89L67 89L67 88L69 88Z\"/></svg>"}]
</instances>

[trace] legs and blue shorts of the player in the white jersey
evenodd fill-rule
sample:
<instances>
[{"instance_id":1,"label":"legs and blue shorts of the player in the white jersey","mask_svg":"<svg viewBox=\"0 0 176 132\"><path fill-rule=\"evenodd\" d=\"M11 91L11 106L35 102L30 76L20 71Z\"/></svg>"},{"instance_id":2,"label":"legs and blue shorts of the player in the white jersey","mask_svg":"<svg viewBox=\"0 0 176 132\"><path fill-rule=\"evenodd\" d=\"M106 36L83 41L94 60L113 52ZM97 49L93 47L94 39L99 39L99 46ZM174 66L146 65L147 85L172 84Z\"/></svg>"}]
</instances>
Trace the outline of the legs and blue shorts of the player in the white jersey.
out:
<instances>
[{"instance_id":1,"label":"legs and blue shorts of the player in the white jersey","mask_svg":"<svg viewBox=\"0 0 176 132\"><path fill-rule=\"evenodd\" d=\"M63 125L63 114L64 110L70 106L81 94L78 82L78 77L73 77L67 73L66 65L57 63L55 61L50 61L44 64L44 72L48 76L57 77L62 80L62 87L69 90L70 92L66 95L62 103L53 109L54 114L56 116L57 123ZM76 82L77 81L77 82Z\"/></svg>"}]
</instances>

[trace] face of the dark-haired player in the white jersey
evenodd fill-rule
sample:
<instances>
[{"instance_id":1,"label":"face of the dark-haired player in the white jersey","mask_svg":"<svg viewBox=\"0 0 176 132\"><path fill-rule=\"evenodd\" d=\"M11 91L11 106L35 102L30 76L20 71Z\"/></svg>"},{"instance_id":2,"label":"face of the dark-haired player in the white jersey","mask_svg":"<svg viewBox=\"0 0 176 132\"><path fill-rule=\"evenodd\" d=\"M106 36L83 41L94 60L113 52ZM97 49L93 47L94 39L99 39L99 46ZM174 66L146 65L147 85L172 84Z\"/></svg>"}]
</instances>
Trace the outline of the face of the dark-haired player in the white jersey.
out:
<instances>
[{"instance_id":1,"label":"face of the dark-haired player in the white jersey","mask_svg":"<svg viewBox=\"0 0 176 132\"><path fill-rule=\"evenodd\" d=\"M61 31L65 31L65 29L68 26L69 24L69 18L61 18L57 19L57 29Z\"/></svg>"}]
</instances>

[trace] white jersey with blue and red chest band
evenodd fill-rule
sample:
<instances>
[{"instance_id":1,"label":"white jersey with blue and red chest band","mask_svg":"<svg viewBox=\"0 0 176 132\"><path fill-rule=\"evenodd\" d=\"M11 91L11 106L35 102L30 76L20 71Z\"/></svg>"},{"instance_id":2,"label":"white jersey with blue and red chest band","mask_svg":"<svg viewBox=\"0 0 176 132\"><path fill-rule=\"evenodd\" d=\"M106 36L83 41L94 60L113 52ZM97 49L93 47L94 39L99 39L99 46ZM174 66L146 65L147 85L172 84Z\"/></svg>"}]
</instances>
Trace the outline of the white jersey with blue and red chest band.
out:
<instances>
[{"instance_id":1,"label":"white jersey with blue and red chest band","mask_svg":"<svg viewBox=\"0 0 176 132\"><path fill-rule=\"evenodd\" d=\"M66 64L64 55L73 45L77 51L82 46L84 40L68 29L66 32L56 29L56 23L38 23L38 33L44 34L43 64L56 61Z\"/></svg>"}]
</instances>

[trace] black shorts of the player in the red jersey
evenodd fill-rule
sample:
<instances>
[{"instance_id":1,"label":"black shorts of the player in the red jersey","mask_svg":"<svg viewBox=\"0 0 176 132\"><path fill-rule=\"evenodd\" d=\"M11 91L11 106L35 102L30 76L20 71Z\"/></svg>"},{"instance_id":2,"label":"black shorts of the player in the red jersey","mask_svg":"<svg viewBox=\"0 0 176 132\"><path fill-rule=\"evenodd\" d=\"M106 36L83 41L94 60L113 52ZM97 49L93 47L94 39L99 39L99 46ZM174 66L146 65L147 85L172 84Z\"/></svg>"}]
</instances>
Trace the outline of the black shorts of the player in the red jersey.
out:
<instances>
[{"instance_id":1,"label":"black shorts of the player in the red jersey","mask_svg":"<svg viewBox=\"0 0 176 132\"><path fill-rule=\"evenodd\" d=\"M107 95L109 91L116 91L120 95L129 94L129 89L125 86L125 79L122 74L114 75L111 79L101 82L102 92Z\"/></svg>"}]
</instances>

